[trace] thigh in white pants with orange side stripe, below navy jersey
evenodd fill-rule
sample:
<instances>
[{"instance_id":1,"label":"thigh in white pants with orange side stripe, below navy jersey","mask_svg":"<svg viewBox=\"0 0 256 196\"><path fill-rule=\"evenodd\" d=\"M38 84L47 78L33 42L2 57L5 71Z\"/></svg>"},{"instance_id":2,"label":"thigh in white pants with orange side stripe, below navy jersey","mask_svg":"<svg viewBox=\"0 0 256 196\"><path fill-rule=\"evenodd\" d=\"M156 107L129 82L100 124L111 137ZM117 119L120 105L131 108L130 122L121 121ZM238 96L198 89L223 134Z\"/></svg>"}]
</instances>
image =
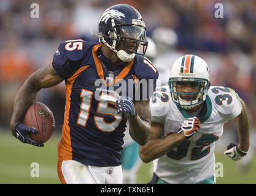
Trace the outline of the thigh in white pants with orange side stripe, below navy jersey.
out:
<instances>
[{"instance_id":1,"label":"thigh in white pants with orange side stripe, below navy jersey","mask_svg":"<svg viewBox=\"0 0 256 196\"><path fill-rule=\"evenodd\" d=\"M61 183L68 184L96 184L97 181L83 164L76 160L58 160L58 178Z\"/></svg>"}]
</instances>

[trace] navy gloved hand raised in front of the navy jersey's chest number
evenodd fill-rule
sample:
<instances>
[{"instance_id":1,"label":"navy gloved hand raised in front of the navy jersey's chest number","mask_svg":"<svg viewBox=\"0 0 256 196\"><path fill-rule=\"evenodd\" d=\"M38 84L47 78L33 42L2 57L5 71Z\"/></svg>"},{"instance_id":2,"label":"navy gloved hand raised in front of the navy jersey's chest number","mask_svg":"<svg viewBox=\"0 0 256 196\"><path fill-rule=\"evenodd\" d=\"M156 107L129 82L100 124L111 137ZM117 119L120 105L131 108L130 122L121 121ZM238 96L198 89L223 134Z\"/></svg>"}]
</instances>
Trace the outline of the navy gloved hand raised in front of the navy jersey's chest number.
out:
<instances>
[{"instance_id":1,"label":"navy gloved hand raised in front of the navy jersey's chest number","mask_svg":"<svg viewBox=\"0 0 256 196\"><path fill-rule=\"evenodd\" d=\"M123 118L126 120L129 119L131 116L136 116L136 110L133 104L133 101L130 99L130 97L120 97L116 96L117 101L115 104L117 105L117 113L122 113Z\"/></svg>"}]
</instances>

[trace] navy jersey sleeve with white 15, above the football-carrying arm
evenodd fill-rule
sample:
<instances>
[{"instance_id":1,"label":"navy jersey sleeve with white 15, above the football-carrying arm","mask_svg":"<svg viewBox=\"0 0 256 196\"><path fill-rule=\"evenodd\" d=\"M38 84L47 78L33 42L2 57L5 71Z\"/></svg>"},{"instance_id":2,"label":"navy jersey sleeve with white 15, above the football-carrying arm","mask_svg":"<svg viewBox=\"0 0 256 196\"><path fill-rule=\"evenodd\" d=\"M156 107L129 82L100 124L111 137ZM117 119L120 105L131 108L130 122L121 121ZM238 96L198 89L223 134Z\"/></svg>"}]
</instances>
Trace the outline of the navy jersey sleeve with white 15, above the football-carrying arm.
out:
<instances>
[{"instance_id":1,"label":"navy jersey sleeve with white 15, above the football-carrying arm","mask_svg":"<svg viewBox=\"0 0 256 196\"><path fill-rule=\"evenodd\" d=\"M83 56L88 52L88 46L90 44L82 40L60 43L53 55L52 66L61 78L70 78L80 68Z\"/></svg>"}]
</instances>

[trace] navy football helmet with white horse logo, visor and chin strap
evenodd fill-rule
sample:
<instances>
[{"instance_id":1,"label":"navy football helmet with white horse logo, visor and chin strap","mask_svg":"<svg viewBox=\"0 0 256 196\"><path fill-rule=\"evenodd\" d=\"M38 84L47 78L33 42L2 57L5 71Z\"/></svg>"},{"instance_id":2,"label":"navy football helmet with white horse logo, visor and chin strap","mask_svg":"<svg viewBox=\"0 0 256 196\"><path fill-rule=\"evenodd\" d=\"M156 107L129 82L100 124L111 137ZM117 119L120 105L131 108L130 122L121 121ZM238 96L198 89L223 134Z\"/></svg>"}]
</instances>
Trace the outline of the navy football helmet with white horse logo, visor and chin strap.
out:
<instances>
[{"instance_id":1,"label":"navy football helmet with white horse logo, visor and chin strap","mask_svg":"<svg viewBox=\"0 0 256 196\"><path fill-rule=\"evenodd\" d=\"M104 11L98 37L125 62L131 61L135 54L145 55L147 50L145 23L138 10L127 4L117 4Z\"/></svg>"}]
</instances>

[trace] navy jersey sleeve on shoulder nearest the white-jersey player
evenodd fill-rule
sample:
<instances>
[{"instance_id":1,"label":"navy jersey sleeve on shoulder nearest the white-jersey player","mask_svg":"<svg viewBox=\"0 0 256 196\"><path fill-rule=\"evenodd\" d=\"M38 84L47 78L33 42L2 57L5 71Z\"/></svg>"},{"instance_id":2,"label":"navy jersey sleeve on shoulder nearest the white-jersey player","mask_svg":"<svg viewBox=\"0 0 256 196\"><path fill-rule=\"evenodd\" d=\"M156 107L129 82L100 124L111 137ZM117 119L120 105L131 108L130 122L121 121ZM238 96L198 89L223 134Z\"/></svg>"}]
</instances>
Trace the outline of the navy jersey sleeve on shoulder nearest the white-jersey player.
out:
<instances>
[{"instance_id":1,"label":"navy jersey sleeve on shoulder nearest the white-jersey player","mask_svg":"<svg viewBox=\"0 0 256 196\"><path fill-rule=\"evenodd\" d=\"M141 99L149 99L157 87L159 76L157 68L153 66L149 59L143 56L137 56L135 74L141 85L141 88L139 88Z\"/></svg>"}]
</instances>

